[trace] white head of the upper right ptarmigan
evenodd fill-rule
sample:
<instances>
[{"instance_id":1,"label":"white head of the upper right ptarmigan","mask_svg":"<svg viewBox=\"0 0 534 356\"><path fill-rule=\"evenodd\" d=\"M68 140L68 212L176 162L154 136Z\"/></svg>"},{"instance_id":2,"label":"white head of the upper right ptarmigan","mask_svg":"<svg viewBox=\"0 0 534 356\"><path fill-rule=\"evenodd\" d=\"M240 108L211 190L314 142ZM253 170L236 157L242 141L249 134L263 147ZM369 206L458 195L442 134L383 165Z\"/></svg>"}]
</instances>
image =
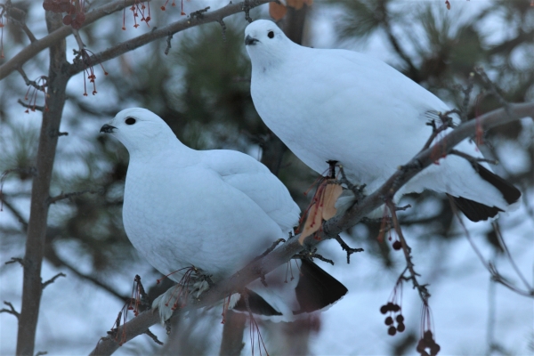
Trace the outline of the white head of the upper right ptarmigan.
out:
<instances>
[{"instance_id":1,"label":"white head of the upper right ptarmigan","mask_svg":"<svg viewBox=\"0 0 534 356\"><path fill-rule=\"evenodd\" d=\"M255 20L245 28L245 45L253 68L265 69L283 60L291 44L284 32L270 20Z\"/></svg>"}]
</instances>

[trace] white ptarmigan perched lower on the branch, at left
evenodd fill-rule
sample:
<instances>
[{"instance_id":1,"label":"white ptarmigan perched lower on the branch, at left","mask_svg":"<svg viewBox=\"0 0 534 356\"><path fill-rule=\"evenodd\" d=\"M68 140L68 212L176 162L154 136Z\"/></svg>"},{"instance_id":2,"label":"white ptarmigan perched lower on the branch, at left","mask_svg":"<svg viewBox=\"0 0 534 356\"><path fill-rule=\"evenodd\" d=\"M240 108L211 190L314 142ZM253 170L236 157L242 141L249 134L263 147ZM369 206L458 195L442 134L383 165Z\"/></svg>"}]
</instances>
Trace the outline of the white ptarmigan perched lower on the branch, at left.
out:
<instances>
[{"instance_id":1,"label":"white ptarmigan perched lower on the branch, at left","mask_svg":"<svg viewBox=\"0 0 534 356\"><path fill-rule=\"evenodd\" d=\"M287 239L298 221L299 207L266 166L238 151L192 150L147 109L120 111L101 133L115 136L130 154L123 206L128 239L176 282L185 270L173 272L191 266L214 282L230 277L276 239ZM288 283L282 265L266 275L267 287L259 280L248 285L252 312L294 320L345 295L327 272L301 263ZM164 320L172 313L170 297L155 303ZM247 312L244 300L234 309Z\"/></svg>"}]
</instances>

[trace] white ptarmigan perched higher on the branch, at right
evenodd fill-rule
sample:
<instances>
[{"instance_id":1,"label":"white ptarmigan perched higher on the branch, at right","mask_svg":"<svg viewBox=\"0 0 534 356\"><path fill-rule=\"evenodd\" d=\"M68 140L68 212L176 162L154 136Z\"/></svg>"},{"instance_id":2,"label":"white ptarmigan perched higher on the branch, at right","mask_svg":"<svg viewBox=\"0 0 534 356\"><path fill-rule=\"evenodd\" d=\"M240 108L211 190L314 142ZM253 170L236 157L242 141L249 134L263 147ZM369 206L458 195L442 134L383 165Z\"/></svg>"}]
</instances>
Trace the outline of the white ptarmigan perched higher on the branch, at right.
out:
<instances>
[{"instance_id":1,"label":"white ptarmigan perched higher on the branch, at right","mask_svg":"<svg viewBox=\"0 0 534 356\"><path fill-rule=\"evenodd\" d=\"M425 125L449 108L433 93L382 61L346 50L293 43L269 20L245 29L252 62L250 91L263 122L316 172L329 160L344 166L367 191L380 187L409 162L432 134ZM481 154L465 140L456 150ZM521 192L485 164L448 155L396 194L435 190L451 196L472 221L506 211Z\"/></svg>"}]
</instances>

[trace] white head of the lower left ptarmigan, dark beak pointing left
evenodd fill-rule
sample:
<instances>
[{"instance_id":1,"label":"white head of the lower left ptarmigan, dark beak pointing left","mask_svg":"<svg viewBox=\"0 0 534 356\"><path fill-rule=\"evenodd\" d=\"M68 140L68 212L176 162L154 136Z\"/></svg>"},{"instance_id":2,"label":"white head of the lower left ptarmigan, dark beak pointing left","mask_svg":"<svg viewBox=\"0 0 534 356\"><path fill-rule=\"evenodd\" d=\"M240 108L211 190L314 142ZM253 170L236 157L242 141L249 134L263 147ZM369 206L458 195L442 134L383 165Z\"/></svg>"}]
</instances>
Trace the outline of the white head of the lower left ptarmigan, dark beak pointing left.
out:
<instances>
[{"instance_id":1,"label":"white head of the lower left ptarmigan, dark beak pointing left","mask_svg":"<svg viewBox=\"0 0 534 356\"><path fill-rule=\"evenodd\" d=\"M120 111L108 124L101 127L100 132L115 136L130 154L137 150L146 153L150 153L150 150L162 150L167 142L178 141L161 117L142 108Z\"/></svg>"}]
</instances>

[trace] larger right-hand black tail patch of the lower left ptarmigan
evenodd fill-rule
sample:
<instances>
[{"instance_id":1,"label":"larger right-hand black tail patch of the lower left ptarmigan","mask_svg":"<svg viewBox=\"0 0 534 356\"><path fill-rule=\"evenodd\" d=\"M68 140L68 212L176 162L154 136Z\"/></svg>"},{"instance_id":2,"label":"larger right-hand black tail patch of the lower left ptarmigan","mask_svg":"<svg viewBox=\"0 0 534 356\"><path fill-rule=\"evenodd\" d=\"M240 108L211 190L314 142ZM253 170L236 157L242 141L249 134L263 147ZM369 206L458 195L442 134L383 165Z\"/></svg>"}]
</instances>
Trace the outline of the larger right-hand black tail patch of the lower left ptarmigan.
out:
<instances>
[{"instance_id":1,"label":"larger right-hand black tail patch of the lower left ptarmigan","mask_svg":"<svg viewBox=\"0 0 534 356\"><path fill-rule=\"evenodd\" d=\"M301 309L294 311L295 315L319 311L347 294L348 289L317 264L308 260L302 262L300 279L295 288L296 300Z\"/></svg>"}]
</instances>

